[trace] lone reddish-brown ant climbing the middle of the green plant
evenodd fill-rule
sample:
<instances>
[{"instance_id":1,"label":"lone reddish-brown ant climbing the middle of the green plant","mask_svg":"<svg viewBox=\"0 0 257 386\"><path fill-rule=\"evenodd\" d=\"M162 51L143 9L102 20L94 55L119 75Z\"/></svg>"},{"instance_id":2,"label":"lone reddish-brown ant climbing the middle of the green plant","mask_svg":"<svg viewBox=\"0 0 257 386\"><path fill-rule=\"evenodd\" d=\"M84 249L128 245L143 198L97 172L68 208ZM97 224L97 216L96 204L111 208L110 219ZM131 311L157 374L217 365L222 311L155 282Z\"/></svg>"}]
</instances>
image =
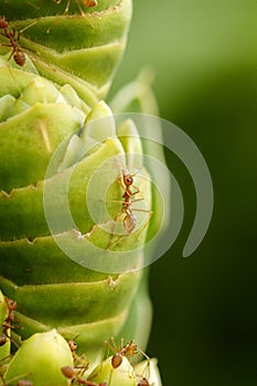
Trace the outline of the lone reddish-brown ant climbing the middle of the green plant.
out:
<instances>
[{"instance_id":1,"label":"lone reddish-brown ant climbing the middle of the green plant","mask_svg":"<svg viewBox=\"0 0 257 386\"><path fill-rule=\"evenodd\" d=\"M139 202L139 201L143 200L142 197L132 200L132 197L136 194L140 193L140 190L137 186L133 185L133 175L135 174L126 173L126 171L122 170L122 178L121 178L122 179L121 180L122 183L120 182L120 184L121 184L121 187L125 190L125 192L122 194L124 201L109 201L109 202L113 202L113 203L120 203L120 204L122 204L122 208L121 208L120 213L117 215L117 218L125 215L125 217L124 217L124 228L127 232L127 234L131 234L133 232L133 229L136 228L136 226L137 226L137 217L135 216L133 211L135 212L144 212L144 213L149 214L149 219L142 226L141 232L146 228L146 226L149 223L149 221L151 218L151 215L152 215L151 211L140 210L140 208L132 208L131 207L131 205L135 202ZM118 239L115 242L115 244L118 243L120 237L122 237L122 235L120 235L118 237ZM108 248L110 246L111 246L111 242L110 242L110 245L108 246Z\"/></svg>"}]
</instances>

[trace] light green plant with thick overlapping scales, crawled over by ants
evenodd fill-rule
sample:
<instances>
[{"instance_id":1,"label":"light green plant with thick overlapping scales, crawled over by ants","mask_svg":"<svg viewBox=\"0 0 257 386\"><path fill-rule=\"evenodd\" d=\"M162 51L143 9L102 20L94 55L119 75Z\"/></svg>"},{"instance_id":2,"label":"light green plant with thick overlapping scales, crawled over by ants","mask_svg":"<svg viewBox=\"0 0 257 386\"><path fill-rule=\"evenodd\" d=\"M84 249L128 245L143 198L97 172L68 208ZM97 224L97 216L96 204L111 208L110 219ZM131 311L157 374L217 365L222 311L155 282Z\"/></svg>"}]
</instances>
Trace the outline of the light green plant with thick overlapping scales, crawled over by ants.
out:
<instances>
[{"instance_id":1,"label":"light green plant with thick overlapping scales, crawled over by ants","mask_svg":"<svg viewBox=\"0 0 257 386\"><path fill-rule=\"evenodd\" d=\"M128 119L117 125L103 101L126 45L131 1L103 0L93 8L64 0L8 0L0 6L0 288L18 303L19 325L10 325L11 339L18 345L26 340L4 382L12 384L29 373L35 385L61 385L68 382L61 367L72 363L60 334L66 340L76 337L78 354L86 354L93 369L110 335L136 340L144 350L150 331L148 275L139 269L141 249L132 249L143 245L149 222L143 219L129 236L114 236L113 228L114 221L122 227L126 215L120 203L125 190L119 183L120 163L126 164L130 154L143 154L142 144L135 124ZM135 185L143 192L150 211L151 200L154 206L157 199L154 192L151 197L148 175L142 168ZM103 214L104 206L108 211ZM158 218L156 206L152 232ZM90 261L98 259L99 249L111 250L114 256L131 250L132 262L126 269L110 264L109 269L93 270ZM3 298L1 304L4 323ZM0 347L2 358L10 345L7 335ZM35 349L30 347L38 340L45 342L45 336L53 347L61 342L66 360L58 355L58 363L49 356L43 374L42 356L36 360ZM51 347L46 344L44 355L55 351ZM50 363L54 368L47 375ZM120 379L111 380L114 386L117 383Z\"/></svg>"}]
</instances>

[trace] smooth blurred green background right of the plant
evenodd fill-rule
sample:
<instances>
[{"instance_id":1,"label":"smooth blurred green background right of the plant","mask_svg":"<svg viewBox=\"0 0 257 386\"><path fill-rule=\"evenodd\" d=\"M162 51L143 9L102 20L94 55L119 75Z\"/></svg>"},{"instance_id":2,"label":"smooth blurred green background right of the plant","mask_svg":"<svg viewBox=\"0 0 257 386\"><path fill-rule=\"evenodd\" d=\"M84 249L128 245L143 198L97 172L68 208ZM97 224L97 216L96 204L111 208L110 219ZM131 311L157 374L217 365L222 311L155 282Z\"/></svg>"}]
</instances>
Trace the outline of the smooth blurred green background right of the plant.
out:
<instances>
[{"instance_id":1,"label":"smooth blurred green background right of the plant","mask_svg":"<svg viewBox=\"0 0 257 386\"><path fill-rule=\"evenodd\" d=\"M196 143L215 194L208 232L184 259L195 193L181 161L167 154L185 218L171 250L151 267L148 352L159 357L164 386L256 386L257 1L135 0L110 95L146 64L156 71L161 117Z\"/></svg>"}]
</instances>

